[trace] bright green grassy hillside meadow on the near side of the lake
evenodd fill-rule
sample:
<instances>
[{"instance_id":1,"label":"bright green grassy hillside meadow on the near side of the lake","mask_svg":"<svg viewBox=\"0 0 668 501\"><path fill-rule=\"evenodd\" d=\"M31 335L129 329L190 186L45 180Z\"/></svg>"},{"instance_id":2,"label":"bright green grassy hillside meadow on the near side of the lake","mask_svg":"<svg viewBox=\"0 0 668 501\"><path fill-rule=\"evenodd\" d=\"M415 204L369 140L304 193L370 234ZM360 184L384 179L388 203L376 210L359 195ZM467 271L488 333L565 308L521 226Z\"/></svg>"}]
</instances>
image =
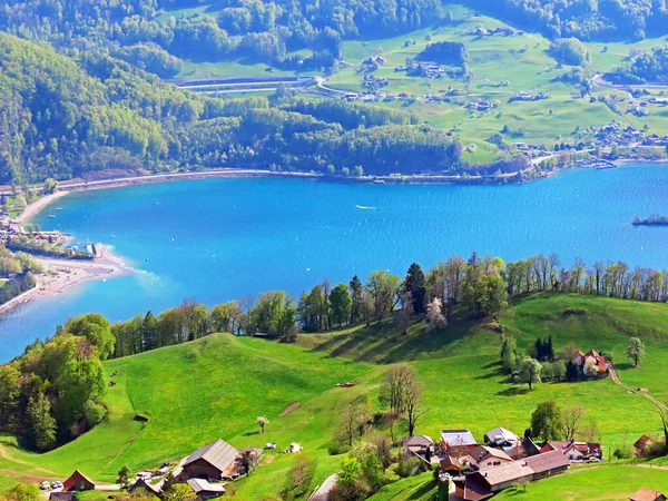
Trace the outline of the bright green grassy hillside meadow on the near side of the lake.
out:
<instances>
[{"instance_id":1,"label":"bright green grassy hillside meadow on the near side of the lake","mask_svg":"<svg viewBox=\"0 0 668 501\"><path fill-rule=\"evenodd\" d=\"M581 314L564 315L567 308ZM662 367L668 362L667 321L668 305L532 295L514 301L500 324L505 333L518 336L519 347L551 334L556 350L573 342L583 351L611 351L623 382L660 396L666 390ZM380 327L302 335L296 345L215 334L109 361L105 370L116 385L108 390L107 420L77 441L41 455L21 450L11 436L0 438L0 488L21 479L62 479L75 468L111 483L122 464L132 470L156 468L165 460L178 461L217 438L237 448L278 443L278 450L265 453L263 464L249 478L235 483L237 498L262 499L284 484L294 456L281 453L281 449L289 442L298 442L315 462L315 488L341 462L340 456L328 454L327 446L342 406L353 397L367 395L380 410L377 394L383 373L387 364L402 361L416 367L425 387L428 412L418 425L419 433L438 436L443 428L462 426L470 428L480 440L484 432L502 425L521 434L532 410L544 400L583 406L586 420L597 423L606 455L625 441L632 443L642 433L659 431L652 404L610 380L544 383L531 392L509 384L498 365L498 328L464 318L454 318L433 334L425 334L423 327L414 324L407 335L402 335L391 320ZM625 360L632 335L647 344L648 355L638 369ZM335 386L346 381L356 385ZM295 402L299 402L296 410L281 415ZM134 421L136 414L149 422ZM265 434L258 433L254 424L257 415L269 419ZM590 474L599 472L600 480L597 477L592 481L599 485L605 483L606 474L613 475L608 470L612 466L577 474L589 482ZM668 482L668 472L660 470L625 466L620 471L629 488L637 475L648 482L656 477L657 488ZM566 478L551 479L530 485L527 493L517 497L540 499L540 489L548 482L559 489L569 487ZM429 499L433 488L431 477L423 475L393 483L376 499Z\"/></svg>"}]
</instances>

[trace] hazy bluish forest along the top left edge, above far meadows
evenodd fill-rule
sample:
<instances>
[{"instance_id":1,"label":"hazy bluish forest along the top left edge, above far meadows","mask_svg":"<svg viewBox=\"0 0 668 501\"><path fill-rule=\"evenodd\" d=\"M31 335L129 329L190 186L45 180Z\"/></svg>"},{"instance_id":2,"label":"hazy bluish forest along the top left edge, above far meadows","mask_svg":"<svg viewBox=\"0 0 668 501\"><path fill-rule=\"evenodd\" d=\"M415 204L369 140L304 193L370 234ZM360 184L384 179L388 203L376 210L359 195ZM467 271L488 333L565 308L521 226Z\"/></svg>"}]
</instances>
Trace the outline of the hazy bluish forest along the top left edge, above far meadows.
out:
<instances>
[{"instance_id":1,"label":"hazy bluish forest along the top left edge, above far meadows","mask_svg":"<svg viewBox=\"0 0 668 501\"><path fill-rule=\"evenodd\" d=\"M439 16L436 0L8 0L0 30L61 48L104 48L169 77L179 62L250 57L279 63L308 48L338 57L341 40L410 32ZM163 9L214 6L206 13L169 16ZM222 9L220 9L222 8Z\"/></svg>"}]
</instances>

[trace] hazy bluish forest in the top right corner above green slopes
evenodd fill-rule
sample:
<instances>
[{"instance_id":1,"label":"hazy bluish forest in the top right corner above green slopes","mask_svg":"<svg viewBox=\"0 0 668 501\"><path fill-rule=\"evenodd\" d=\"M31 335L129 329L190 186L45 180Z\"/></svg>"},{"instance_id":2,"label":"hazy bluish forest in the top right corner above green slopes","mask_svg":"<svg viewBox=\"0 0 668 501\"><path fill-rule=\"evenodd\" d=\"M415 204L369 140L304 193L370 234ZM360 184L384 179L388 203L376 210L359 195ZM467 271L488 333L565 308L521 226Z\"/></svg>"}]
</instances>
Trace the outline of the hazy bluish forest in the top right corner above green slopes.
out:
<instances>
[{"instance_id":1,"label":"hazy bluish forest in the top right corner above green slopes","mask_svg":"<svg viewBox=\"0 0 668 501\"><path fill-rule=\"evenodd\" d=\"M665 0L448 0L547 37L636 39L668 33Z\"/></svg>"}]
</instances>

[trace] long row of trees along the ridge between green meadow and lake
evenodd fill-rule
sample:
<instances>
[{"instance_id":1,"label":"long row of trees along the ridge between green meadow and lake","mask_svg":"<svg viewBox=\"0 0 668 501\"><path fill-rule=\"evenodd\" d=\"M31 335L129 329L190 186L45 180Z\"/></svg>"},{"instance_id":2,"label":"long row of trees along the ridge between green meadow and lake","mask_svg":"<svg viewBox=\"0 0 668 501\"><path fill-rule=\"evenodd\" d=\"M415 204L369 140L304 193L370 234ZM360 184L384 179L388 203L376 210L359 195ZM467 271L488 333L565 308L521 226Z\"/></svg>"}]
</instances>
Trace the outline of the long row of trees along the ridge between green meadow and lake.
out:
<instances>
[{"instance_id":1,"label":"long row of trees along the ridge between green meadow and lake","mask_svg":"<svg viewBox=\"0 0 668 501\"><path fill-rule=\"evenodd\" d=\"M620 262L607 266L597 262L587 268L581 259L576 259L571 267L562 267L553 254L504 263L499 257L481 257L473 253L469 259L450 257L426 273L413 263L403 276L379 269L371 272L364 281L356 275L348 283L337 285L325 279L298 298L284 291L268 291L257 297L246 296L213 308L195 299L185 299L178 307L159 315L148 312L114 325L111 332L116 344L111 356L134 355L214 332L293 342L298 333L317 333L360 323L380 325L390 315L395 315L404 330L416 317L424 318L425 328L431 332L445 326L454 311L471 318L498 318L509 297L533 292L666 302L666 273L645 268L631 271ZM509 345L511 342L510 338L505 341L501 354L509 373L519 370L521 363L517 347ZM544 363L554 362L551 338L539 340L528 354ZM546 375L561 379L566 373L566 366L550 366Z\"/></svg>"}]
</instances>

